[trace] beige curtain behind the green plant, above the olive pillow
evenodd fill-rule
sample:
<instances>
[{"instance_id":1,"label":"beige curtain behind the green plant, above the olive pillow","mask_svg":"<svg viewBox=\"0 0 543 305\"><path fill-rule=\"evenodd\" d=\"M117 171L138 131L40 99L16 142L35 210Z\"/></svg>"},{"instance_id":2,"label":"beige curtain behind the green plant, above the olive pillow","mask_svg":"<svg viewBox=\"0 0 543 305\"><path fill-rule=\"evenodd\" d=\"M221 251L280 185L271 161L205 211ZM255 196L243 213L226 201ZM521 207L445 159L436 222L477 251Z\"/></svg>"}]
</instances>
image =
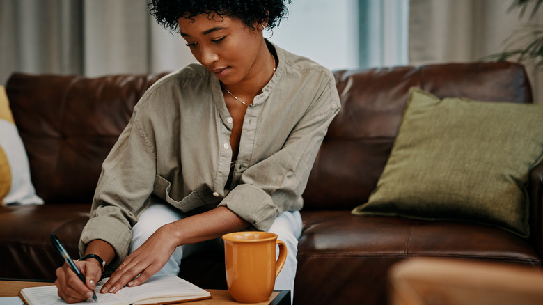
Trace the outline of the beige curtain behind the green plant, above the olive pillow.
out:
<instances>
[{"instance_id":1,"label":"beige curtain behind the green plant, above the olive pillow","mask_svg":"<svg viewBox=\"0 0 543 305\"><path fill-rule=\"evenodd\" d=\"M409 63L479 61L503 51L530 11L508 12L513 0L410 0ZM543 24L543 8L531 22ZM518 44L517 44L518 46ZM535 102L543 104L543 70L526 65Z\"/></svg>"}]
</instances>

